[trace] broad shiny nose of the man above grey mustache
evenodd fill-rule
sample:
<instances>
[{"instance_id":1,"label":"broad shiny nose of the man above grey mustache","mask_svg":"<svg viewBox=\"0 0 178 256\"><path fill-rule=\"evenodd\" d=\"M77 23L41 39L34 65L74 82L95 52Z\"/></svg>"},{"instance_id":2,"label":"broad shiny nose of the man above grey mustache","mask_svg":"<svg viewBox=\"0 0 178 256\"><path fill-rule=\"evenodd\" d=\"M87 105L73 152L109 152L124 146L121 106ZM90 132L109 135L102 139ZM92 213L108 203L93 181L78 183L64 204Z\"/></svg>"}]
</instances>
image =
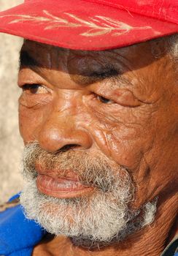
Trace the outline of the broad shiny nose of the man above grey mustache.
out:
<instances>
[{"instance_id":1,"label":"broad shiny nose of the man above grey mustache","mask_svg":"<svg viewBox=\"0 0 178 256\"><path fill-rule=\"evenodd\" d=\"M92 145L87 129L77 124L74 116L60 116L60 113L53 113L44 121L36 139L39 146L48 152L71 147L88 149Z\"/></svg>"}]
</instances>

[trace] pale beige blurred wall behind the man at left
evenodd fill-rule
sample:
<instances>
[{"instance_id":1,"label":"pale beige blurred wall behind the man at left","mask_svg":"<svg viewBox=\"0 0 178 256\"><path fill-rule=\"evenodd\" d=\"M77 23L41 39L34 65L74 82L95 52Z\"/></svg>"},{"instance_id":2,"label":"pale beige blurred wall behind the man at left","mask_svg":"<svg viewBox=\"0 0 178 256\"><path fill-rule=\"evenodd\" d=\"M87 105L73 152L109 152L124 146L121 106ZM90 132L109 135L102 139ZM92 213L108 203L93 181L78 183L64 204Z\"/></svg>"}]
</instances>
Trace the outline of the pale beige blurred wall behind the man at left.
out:
<instances>
[{"instance_id":1,"label":"pale beige blurred wall behind the man at left","mask_svg":"<svg viewBox=\"0 0 178 256\"><path fill-rule=\"evenodd\" d=\"M22 3L0 0L0 11ZM18 53L22 39L0 34L0 203L20 191L23 142L18 132Z\"/></svg>"}]
</instances>

